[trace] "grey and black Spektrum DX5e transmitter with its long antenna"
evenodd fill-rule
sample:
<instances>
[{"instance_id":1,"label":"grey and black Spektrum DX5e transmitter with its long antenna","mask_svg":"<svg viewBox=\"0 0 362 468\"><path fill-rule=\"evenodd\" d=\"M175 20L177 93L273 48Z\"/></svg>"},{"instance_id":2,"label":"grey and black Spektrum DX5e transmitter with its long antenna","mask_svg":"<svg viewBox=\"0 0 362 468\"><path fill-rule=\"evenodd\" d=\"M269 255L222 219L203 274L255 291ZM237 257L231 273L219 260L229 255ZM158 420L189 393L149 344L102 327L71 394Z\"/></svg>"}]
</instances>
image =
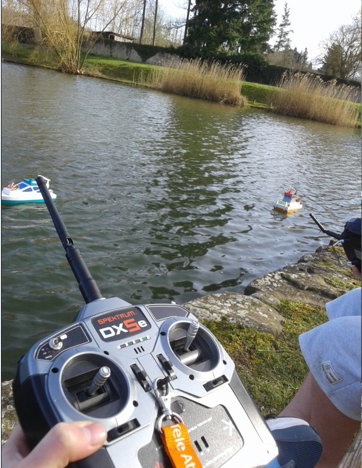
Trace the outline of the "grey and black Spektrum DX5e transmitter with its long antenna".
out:
<instances>
[{"instance_id":1,"label":"grey and black Spektrum DX5e transmitter with its long antenna","mask_svg":"<svg viewBox=\"0 0 362 468\"><path fill-rule=\"evenodd\" d=\"M18 363L15 408L31 445L59 421L94 420L107 441L74 468L171 468L159 431L183 421L203 467L274 466L275 441L213 334L173 303L103 298L36 182L86 304Z\"/></svg>"}]
</instances>

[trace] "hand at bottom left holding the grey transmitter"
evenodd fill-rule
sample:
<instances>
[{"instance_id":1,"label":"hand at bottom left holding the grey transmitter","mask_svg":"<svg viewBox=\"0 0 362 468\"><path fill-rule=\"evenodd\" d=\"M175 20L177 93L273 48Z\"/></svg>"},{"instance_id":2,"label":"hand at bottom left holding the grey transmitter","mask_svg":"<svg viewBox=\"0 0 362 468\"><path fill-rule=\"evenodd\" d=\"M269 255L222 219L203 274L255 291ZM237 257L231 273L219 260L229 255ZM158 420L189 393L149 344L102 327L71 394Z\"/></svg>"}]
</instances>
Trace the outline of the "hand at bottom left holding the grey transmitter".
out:
<instances>
[{"instance_id":1,"label":"hand at bottom left holding the grey transmitter","mask_svg":"<svg viewBox=\"0 0 362 468\"><path fill-rule=\"evenodd\" d=\"M106 436L97 422L59 422L30 452L23 430L16 426L2 447L2 463L5 468L65 468L100 449Z\"/></svg>"}]
</instances>

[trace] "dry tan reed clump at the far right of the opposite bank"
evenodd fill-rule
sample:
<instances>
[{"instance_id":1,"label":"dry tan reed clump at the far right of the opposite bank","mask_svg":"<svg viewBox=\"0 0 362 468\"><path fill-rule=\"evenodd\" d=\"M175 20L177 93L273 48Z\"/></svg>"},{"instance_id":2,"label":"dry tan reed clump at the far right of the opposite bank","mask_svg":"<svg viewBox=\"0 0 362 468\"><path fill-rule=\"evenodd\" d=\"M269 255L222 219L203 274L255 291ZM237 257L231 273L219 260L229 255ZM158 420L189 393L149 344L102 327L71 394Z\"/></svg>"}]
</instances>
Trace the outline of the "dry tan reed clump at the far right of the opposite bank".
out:
<instances>
[{"instance_id":1,"label":"dry tan reed clump at the far right of the opposite bank","mask_svg":"<svg viewBox=\"0 0 362 468\"><path fill-rule=\"evenodd\" d=\"M351 103L353 88L324 82L310 73L285 73L271 94L271 110L328 124L356 127L358 105Z\"/></svg>"}]
</instances>

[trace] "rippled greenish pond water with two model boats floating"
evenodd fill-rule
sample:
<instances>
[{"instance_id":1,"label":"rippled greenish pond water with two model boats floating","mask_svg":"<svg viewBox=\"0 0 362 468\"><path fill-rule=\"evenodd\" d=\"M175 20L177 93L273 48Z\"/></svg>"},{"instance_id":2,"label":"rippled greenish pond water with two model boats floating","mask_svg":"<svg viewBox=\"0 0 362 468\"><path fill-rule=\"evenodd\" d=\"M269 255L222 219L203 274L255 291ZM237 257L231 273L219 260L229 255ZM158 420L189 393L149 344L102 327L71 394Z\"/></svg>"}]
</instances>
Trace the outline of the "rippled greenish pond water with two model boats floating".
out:
<instances>
[{"instance_id":1,"label":"rippled greenish pond water with two model boats floating","mask_svg":"<svg viewBox=\"0 0 362 468\"><path fill-rule=\"evenodd\" d=\"M7 63L2 87L2 187L51 179L104 297L242 293L329 242L310 212L360 216L360 130ZM3 380L83 303L46 207L2 206Z\"/></svg>"}]
</instances>

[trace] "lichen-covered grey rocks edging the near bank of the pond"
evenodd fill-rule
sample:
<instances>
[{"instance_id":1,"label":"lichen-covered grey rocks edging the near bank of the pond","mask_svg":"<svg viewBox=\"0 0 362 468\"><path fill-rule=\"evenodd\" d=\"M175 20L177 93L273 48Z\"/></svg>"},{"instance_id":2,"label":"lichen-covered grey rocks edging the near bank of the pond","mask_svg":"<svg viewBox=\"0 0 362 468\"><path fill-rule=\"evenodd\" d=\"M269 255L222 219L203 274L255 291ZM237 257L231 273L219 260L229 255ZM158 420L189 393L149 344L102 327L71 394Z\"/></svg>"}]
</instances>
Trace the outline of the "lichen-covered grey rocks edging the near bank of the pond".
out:
<instances>
[{"instance_id":1,"label":"lichen-covered grey rocks edging the near bank of the pond","mask_svg":"<svg viewBox=\"0 0 362 468\"><path fill-rule=\"evenodd\" d=\"M330 247L319 247L314 254L304 255L296 263L251 281L244 294L210 294L184 306L201 320L218 322L227 317L239 327L277 337L284 324L284 317L277 310L280 300L324 308L326 302L359 286L351 268L338 267ZM12 381L2 382L2 444L17 423L11 384Z\"/></svg>"}]
</instances>

